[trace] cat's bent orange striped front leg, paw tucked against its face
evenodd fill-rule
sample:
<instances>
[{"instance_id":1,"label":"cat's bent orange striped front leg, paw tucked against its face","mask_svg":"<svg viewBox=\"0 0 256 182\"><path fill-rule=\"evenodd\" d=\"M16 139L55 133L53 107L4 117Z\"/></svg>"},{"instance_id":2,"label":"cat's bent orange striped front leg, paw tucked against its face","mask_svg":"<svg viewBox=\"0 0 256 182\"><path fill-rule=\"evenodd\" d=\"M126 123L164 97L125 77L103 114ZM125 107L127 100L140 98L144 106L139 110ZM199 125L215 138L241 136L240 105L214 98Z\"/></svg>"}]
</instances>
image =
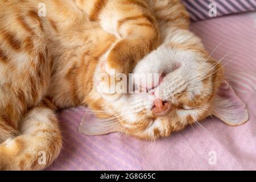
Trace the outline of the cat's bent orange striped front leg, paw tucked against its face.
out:
<instances>
[{"instance_id":1,"label":"cat's bent orange striped front leg, paw tucked against its face","mask_svg":"<svg viewBox=\"0 0 256 182\"><path fill-rule=\"evenodd\" d=\"M100 22L101 27L115 35L118 41L102 57L102 73L114 76L133 71L135 65L148 53L159 46L160 37L154 16L146 1L75 1L89 16L90 20ZM117 93L108 93L109 79L98 83L102 97L113 100ZM111 91L112 92L112 91Z\"/></svg>"}]
</instances>

